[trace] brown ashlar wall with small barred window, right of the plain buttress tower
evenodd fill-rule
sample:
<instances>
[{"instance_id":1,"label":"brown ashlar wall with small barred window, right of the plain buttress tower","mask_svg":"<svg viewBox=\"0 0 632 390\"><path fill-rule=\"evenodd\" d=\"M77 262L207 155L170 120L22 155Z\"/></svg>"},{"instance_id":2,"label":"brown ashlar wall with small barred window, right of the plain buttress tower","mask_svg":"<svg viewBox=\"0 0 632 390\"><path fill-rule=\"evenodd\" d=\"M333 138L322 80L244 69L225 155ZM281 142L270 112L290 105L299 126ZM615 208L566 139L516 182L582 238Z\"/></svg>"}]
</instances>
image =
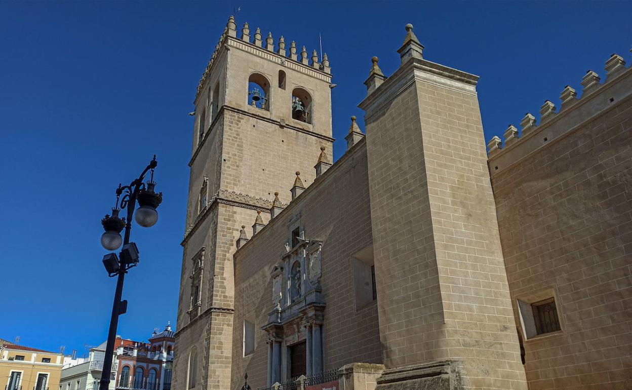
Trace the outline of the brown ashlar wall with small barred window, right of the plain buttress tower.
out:
<instances>
[{"instance_id":1,"label":"brown ashlar wall with small barred window, right of the plain buttress tower","mask_svg":"<svg viewBox=\"0 0 632 390\"><path fill-rule=\"evenodd\" d=\"M531 390L632 388L631 86L628 69L490 158L516 320L553 296L561 326L524 340Z\"/></svg>"}]
</instances>

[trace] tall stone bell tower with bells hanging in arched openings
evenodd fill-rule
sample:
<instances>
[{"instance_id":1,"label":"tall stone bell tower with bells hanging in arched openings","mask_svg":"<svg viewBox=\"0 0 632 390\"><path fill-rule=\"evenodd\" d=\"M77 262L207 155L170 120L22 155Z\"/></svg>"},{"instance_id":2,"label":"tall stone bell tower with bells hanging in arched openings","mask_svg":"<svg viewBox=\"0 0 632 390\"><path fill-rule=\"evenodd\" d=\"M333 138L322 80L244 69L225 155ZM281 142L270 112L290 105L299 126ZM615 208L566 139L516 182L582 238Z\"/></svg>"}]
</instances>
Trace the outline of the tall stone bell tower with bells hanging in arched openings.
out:
<instances>
[{"instance_id":1,"label":"tall stone bell tower with bells hanging in arched openings","mask_svg":"<svg viewBox=\"0 0 632 390\"><path fill-rule=\"evenodd\" d=\"M177 390L228 389L233 253L240 226L268 222L291 200L295 172L315 179L331 155L331 68L325 54L236 30L231 16L195 96L193 151L178 306ZM305 158L308 156L308 158ZM258 213L260 212L260 213ZM258 223L258 224L257 224Z\"/></svg>"}]
</instances>

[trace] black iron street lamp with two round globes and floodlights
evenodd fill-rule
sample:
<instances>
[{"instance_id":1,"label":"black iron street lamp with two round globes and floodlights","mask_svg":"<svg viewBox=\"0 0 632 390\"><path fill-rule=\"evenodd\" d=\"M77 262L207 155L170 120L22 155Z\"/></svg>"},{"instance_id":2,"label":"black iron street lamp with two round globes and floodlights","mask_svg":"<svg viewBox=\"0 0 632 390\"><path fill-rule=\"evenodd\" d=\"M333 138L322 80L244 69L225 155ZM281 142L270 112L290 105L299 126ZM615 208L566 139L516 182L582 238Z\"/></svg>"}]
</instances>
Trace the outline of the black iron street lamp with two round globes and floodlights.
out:
<instances>
[{"instance_id":1,"label":"black iron street lamp with two round globes and floodlights","mask_svg":"<svg viewBox=\"0 0 632 390\"><path fill-rule=\"evenodd\" d=\"M123 279L128 269L138 265L138 248L135 243L130 242L131 219L136 210L136 222L144 228L154 226L158 221L156 208L162 202L162 192L155 193L154 168L158 165L156 156L149 162L143 173L130 183L116 189L116 203L112 208L112 215L106 215L101 224L105 232L101 235L101 245L107 250L117 250L123 245L119 256L116 253L108 253L103 257L103 265L107 274L111 277L118 276L116 281L116 291L114 292L114 303L112 304L112 317L110 318L110 328L107 333L106 356L103 359L103 370L99 381L99 390L108 390L110 376L112 372L112 355L114 355L114 341L116 341L116 328L118 327L118 317L127 311L127 301L121 301L123 295ZM147 183L145 174L150 171L150 179ZM121 197L123 195L123 197ZM127 216L119 217L121 210L127 209ZM124 237L121 237L121 231Z\"/></svg>"}]
</instances>

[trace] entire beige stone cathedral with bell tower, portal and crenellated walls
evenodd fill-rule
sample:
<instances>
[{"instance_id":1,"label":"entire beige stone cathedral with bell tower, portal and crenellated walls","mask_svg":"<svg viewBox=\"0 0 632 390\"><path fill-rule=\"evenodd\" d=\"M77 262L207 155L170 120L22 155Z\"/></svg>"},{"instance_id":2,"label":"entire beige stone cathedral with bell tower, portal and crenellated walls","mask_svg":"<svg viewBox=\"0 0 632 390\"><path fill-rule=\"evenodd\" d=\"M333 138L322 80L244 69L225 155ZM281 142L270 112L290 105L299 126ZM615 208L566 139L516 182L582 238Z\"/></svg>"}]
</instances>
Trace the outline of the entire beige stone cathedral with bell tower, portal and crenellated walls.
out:
<instances>
[{"instance_id":1,"label":"entire beige stone cathedral with bell tower, portal and crenellated walls","mask_svg":"<svg viewBox=\"0 0 632 390\"><path fill-rule=\"evenodd\" d=\"M333 162L327 54L237 29L194 102L174 389L632 389L621 56L486 148L478 76L406 25Z\"/></svg>"}]
</instances>

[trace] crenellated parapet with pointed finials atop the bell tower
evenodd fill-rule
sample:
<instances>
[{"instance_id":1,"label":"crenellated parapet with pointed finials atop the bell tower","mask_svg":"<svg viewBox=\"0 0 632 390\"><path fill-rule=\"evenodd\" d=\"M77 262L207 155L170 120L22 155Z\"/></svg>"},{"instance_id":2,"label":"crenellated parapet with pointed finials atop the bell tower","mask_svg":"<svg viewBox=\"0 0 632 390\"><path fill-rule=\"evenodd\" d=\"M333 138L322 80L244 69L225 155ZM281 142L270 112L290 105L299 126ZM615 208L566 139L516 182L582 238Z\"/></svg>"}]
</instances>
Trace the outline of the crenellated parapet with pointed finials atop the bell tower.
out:
<instances>
[{"instance_id":1,"label":"crenellated parapet with pointed finials atop the bell tower","mask_svg":"<svg viewBox=\"0 0 632 390\"><path fill-rule=\"evenodd\" d=\"M202 90L202 87L204 87L207 76L212 70L213 65L216 63L216 59L219 57L222 49L224 48L225 42L227 42L231 38L248 44L249 46L260 48L263 51L274 53L276 56L281 57L283 61L293 61L296 64L302 64L307 68L312 68L327 75L331 75L331 66L329 65L329 58L327 58L327 53L322 54L322 61L319 62L319 56L315 49L312 51L312 56L308 56L307 49L305 48L305 46L303 46L300 54L297 54L296 42L294 41L291 42L288 53L286 51L285 38L283 36L279 38L279 41L276 45L277 49L275 50L274 37L272 37L272 32L268 32L267 37L265 37L265 39L262 39L261 29L258 27L255 30L255 34L253 35L253 39L251 42L250 26L248 25L248 23L244 23L243 28L241 28L241 36L238 37L237 25L235 23L234 17L230 16L228 18L228 22L226 23L226 28L224 28L224 32L219 37L219 41L215 46L213 54L210 56L209 63L207 64L204 73L202 73L202 77L200 78L200 82L198 83L197 87L197 94L199 94L200 90Z\"/></svg>"}]
</instances>

